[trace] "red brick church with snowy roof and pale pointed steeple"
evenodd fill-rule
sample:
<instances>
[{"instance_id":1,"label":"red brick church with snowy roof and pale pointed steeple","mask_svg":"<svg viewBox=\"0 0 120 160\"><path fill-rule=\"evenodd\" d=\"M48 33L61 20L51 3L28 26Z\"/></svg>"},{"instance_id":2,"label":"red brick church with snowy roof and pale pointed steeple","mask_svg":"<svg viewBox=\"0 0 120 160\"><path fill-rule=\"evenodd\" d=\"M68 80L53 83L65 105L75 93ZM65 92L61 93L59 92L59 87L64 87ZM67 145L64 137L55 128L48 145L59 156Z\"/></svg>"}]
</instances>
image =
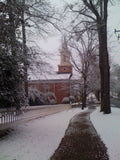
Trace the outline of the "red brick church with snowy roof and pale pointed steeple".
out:
<instances>
[{"instance_id":1,"label":"red brick church with snowy roof and pale pointed steeple","mask_svg":"<svg viewBox=\"0 0 120 160\"><path fill-rule=\"evenodd\" d=\"M55 75L47 79L31 80L28 84L29 87L33 86L43 93L53 92L58 104L62 103L64 97L71 95L71 84L74 81L71 80L73 76L72 64L70 63L70 52L65 38L60 51L60 59L61 62Z\"/></svg>"}]
</instances>

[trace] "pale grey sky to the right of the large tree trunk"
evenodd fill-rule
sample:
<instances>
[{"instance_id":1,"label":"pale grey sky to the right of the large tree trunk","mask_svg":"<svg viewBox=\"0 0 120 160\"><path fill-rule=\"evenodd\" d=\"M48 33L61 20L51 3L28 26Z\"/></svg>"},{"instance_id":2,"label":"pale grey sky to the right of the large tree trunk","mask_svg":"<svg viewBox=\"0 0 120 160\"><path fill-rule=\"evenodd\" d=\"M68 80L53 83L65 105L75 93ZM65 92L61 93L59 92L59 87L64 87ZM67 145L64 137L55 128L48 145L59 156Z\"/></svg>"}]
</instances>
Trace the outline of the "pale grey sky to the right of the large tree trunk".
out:
<instances>
[{"instance_id":1,"label":"pale grey sky to the right of the large tree trunk","mask_svg":"<svg viewBox=\"0 0 120 160\"><path fill-rule=\"evenodd\" d=\"M120 65L120 39L118 41L117 35L114 34L114 29L120 30L120 2L113 6L109 5L108 9L108 46L110 55L115 63Z\"/></svg>"}]
</instances>

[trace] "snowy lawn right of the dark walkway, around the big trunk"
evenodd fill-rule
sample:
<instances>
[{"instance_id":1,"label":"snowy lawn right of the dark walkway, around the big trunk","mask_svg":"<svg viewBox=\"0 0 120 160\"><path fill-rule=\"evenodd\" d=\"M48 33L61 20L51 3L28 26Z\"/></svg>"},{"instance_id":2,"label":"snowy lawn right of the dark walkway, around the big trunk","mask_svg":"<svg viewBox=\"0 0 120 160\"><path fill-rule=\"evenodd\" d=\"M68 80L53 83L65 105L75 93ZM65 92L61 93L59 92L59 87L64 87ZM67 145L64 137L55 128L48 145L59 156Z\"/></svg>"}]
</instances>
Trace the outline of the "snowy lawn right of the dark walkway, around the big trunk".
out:
<instances>
[{"instance_id":1,"label":"snowy lawn right of the dark walkway, around the big trunk","mask_svg":"<svg viewBox=\"0 0 120 160\"><path fill-rule=\"evenodd\" d=\"M108 148L110 160L120 159L120 109L104 115L99 108L91 114L91 121Z\"/></svg>"}]
</instances>

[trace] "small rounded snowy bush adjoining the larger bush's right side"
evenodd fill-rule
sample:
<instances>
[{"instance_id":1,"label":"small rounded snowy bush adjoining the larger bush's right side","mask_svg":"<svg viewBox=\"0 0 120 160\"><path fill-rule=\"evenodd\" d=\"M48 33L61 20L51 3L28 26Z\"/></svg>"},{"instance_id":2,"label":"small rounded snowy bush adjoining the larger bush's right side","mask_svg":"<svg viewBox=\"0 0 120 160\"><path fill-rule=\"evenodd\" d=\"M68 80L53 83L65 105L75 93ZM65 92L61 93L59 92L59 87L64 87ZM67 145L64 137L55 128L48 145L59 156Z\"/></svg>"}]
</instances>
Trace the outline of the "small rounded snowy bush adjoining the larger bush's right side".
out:
<instances>
[{"instance_id":1,"label":"small rounded snowy bush adjoining the larger bush's right side","mask_svg":"<svg viewBox=\"0 0 120 160\"><path fill-rule=\"evenodd\" d=\"M48 92L45 94L45 104L56 104L56 97L53 92Z\"/></svg>"}]
</instances>

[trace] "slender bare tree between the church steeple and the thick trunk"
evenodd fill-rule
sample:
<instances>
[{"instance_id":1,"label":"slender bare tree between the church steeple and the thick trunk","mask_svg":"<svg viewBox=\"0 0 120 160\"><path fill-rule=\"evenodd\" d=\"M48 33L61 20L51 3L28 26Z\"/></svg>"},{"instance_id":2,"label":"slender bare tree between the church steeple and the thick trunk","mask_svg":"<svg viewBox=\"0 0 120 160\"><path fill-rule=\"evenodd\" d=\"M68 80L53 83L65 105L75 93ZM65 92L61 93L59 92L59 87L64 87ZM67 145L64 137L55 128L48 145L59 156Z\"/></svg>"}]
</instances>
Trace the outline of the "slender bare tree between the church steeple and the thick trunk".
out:
<instances>
[{"instance_id":1,"label":"slender bare tree between the church steeple and the thick trunk","mask_svg":"<svg viewBox=\"0 0 120 160\"><path fill-rule=\"evenodd\" d=\"M71 60L75 70L80 74L81 87L81 100L82 109L86 107L86 98L90 92L96 91L96 81L99 78L95 77L95 70L98 68L96 35L86 30L79 38L79 41L71 39L70 47L73 49L71 52ZM97 63L96 63L97 62ZM99 75L99 70L97 70ZM95 79L96 78L96 79ZM91 85L92 84L94 85Z\"/></svg>"}]
</instances>

